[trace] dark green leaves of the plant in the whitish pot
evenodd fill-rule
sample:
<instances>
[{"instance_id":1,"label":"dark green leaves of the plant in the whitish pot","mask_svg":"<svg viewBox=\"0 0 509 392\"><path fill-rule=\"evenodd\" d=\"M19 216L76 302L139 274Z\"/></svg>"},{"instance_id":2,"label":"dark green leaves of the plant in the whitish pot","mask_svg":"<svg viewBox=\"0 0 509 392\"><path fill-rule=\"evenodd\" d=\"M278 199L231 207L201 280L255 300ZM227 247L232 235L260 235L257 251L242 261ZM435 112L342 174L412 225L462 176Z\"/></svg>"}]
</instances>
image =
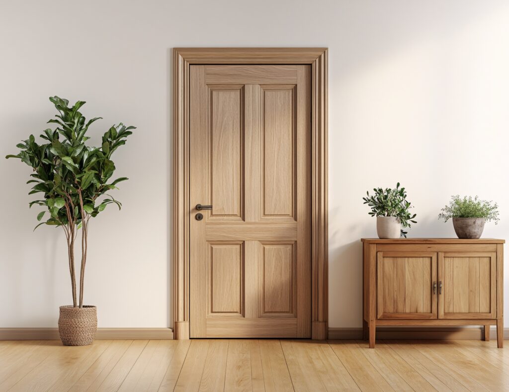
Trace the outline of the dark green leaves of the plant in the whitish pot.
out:
<instances>
[{"instance_id":1,"label":"dark green leaves of the plant in the whitish pot","mask_svg":"<svg viewBox=\"0 0 509 392\"><path fill-rule=\"evenodd\" d=\"M413 220L416 214L411 215L408 211L410 208L410 202L407 201L407 192L405 188L400 188L400 183L396 184L395 189L390 188L373 188L375 194L370 195L367 191L367 197L362 198L363 204L367 204L371 207L371 216L395 216L400 218L401 226L403 228L410 228L410 222L417 223ZM407 237L408 232L401 230L401 235Z\"/></svg>"}]
</instances>

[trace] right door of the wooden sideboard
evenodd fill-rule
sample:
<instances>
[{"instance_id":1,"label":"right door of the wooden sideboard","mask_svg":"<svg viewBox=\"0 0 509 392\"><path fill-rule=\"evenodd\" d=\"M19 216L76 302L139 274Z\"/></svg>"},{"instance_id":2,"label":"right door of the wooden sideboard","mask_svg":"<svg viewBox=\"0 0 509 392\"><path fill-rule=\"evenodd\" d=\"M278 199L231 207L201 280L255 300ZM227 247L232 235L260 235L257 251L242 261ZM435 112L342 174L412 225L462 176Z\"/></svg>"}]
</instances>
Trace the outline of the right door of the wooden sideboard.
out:
<instances>
[{"instance_id":1,"label":"right door of the wooden sideboard","mask_svg":"<svg viewBox=\"0 0 509 392\"><path fill-rule=\"evenodd\" d=\"M496 318L495 253L439 253L438 281L439 318Z\"/></svg>"}]
</instances>

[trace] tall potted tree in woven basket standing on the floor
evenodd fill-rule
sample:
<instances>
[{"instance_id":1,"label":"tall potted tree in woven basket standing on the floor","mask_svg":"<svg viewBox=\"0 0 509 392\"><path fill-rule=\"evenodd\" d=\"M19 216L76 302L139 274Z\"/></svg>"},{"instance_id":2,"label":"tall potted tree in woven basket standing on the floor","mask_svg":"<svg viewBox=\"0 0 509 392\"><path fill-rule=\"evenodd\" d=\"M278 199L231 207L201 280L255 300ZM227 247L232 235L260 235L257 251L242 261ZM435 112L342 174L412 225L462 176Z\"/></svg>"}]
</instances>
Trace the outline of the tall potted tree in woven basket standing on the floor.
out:
<instances>
[{"instance_id":1,"label":"tall potted tree in woven basket standing on the floor","mask_svg":"<svg viewBox=\"0 0 509 392\"><path fill-rule=\"evenodd\" d=\"M102 137L100 147L86 145L89 126L100 119L88 122L79 112L85 102L77 101L72 107L69 101L57 96L50 97L59 114L48 123L56 124L56 129L46 129L41 134L45 142L38 144L34 135L17 145L21 150L17 155L6 158L19 158L33 169L27 184L34 184L29 194L42 193L40 200L30 203L44 207L37 215L41 221L46 212L49 216L41 225L61 227L65 233L68 247L69 272L71 275L72 305L60 306L59 333L62 343L69 346L92 344L97 330L97 309L83 304L84 273L87 263L89 221L103 211L108 204L121 208L121 203L106 192L116 189L121 177L110 181L115 172L111 155L126 143L132 134L131 129L120 123L109 128ZM61 138L62 137L62 138ZM35 230L34 229L34 230ZM80 238L78 233L81 230ZM79 259L79 297L76 290L74 245L81 242Z\"/></svg>"}]
</instances>

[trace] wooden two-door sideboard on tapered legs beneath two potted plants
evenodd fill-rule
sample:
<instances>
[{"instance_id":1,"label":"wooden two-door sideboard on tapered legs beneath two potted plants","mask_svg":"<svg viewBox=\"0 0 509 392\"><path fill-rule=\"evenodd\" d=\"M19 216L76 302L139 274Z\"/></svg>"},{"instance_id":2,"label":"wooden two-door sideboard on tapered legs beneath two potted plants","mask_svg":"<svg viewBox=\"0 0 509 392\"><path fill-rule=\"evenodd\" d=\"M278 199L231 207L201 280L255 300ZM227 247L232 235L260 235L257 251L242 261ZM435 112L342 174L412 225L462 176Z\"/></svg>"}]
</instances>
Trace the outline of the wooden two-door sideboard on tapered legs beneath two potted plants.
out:
<instances>
[{"instance_id":1,"label":"wooden two-door sideboard on tapered legs beneath two potted plants","mask_svg":"<svg viewBox=\"0 0 509 392\"><path fill-rule=\"evenodd\" d=\"M363 238L363 337L384 326L497 326L503 344L499 239Z\"/></svg>"}]
</instances>

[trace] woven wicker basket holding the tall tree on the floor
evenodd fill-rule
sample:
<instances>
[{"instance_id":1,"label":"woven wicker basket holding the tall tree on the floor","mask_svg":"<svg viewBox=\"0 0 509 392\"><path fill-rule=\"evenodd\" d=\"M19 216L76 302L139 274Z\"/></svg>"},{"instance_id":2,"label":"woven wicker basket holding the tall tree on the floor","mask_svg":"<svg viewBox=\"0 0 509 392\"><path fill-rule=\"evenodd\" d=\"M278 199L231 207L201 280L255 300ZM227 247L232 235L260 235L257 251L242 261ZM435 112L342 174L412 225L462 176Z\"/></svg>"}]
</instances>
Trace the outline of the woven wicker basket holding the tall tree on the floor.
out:
<instances>
[{"instance_id":1,"label":"woven wicker basket holding the tall tree on the floor","mask_svg":"<svg viewBox=\"0 0 509 392\"><path fill-rule=\"evenodd\" d=\"M97 307L60 306L59 334L64 346L92 344L97 331Z\"/></svg>"}]
</instances>

